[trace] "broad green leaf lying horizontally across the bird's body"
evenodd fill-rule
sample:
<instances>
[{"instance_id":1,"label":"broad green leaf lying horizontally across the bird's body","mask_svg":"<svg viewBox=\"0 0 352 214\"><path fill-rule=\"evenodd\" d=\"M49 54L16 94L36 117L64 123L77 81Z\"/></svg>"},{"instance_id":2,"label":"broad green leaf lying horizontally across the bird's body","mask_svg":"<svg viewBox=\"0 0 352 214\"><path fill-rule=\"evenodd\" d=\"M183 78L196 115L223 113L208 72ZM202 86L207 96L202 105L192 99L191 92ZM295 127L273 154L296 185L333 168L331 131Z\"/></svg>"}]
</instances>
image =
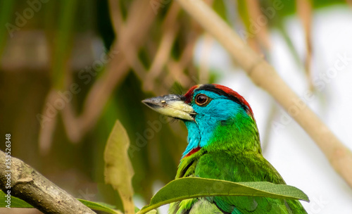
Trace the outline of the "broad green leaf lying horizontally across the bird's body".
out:
<instances>
[{"instance_id":1,"label":"broad green leaf lying horizontally across the bird's body","mask_svg":"<svg viewBox=\"0 0 352 214\"><path fill-rule=\"evenodd\" d=\"M205 196L262 196L277 199L309 201L308 196L296 187L270 182L229 182L201 177L184 177L173 180L159 190L137 214L144 214L159 206L184 199Z\"/></svg>"}]
</instances>

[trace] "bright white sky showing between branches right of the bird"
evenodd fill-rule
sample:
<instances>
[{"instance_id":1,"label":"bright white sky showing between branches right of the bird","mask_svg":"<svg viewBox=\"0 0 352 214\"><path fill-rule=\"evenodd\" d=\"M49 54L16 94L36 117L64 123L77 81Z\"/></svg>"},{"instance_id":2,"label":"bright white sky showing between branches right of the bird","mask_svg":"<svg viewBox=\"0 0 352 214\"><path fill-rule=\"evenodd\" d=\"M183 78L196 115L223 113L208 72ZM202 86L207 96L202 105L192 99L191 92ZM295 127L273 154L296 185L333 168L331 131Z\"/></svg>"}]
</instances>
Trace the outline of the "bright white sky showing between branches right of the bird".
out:
<instances>
[{"instance_id":1,"label":"bright white sky showing between branches right of the bird","mask_svg":"<svg viewBox=\"0 0 352 214\"><path fill-rule=\"evenodd\" d=\"M284 25L299 57L304 59L304 32L300 20L288 18ZM313 16L313 76L327 73L339 61L339 55L351 58L335 77L308 102L323 122L352 149L352 13L349 8L334 7L315 11ZM272 51L270 63L277 69L298 96L308 90L308 82L301 65L297 65L289 47L279 32L270 32ZM203 41L196 47L195 63L199 64ZM214 43L209 55L210 67L222 73L220 84L231 87L246 98L253 108L263 139L272 99L256 87L244 71L234 68L227 52ZM339 65L344 65L341 62ZM280 122L282 108L274 121ZM270 125L273 124L271 121ZM298 187L310 197L303 202L308 213L352 213L352 190L332 169L329 162L308 134L294 121L279 132L270 133L264 156L284 177L287 184ZM352 176L352 175L351 175Z\"/></svg>"}]
</instances>

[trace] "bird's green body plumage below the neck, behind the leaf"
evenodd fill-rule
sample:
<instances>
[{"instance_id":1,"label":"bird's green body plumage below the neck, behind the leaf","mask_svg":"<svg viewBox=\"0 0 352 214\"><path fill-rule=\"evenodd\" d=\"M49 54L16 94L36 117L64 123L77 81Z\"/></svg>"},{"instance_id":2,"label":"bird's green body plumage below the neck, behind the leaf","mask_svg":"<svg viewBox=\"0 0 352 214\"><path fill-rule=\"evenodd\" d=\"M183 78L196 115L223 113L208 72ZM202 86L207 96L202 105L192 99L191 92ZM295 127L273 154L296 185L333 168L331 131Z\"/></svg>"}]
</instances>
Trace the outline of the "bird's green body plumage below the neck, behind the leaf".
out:
<instances>
[{"instance_id":1,"label":"bird's green body plumage below the neck, behind the leaf","mask_svg":"<svg viewBox=\"0 0 352 214\"><path fill-rule=\"evenodd\" d=\"M261 154L208 152L206 149L183 158L177 177L205 177L232 182L267 181L285 184ZM220 209L219 209L220 208ZM172 203L170 213L306 213L298 201L248 196L219 196Z\"/></svg>"}]
</instances>

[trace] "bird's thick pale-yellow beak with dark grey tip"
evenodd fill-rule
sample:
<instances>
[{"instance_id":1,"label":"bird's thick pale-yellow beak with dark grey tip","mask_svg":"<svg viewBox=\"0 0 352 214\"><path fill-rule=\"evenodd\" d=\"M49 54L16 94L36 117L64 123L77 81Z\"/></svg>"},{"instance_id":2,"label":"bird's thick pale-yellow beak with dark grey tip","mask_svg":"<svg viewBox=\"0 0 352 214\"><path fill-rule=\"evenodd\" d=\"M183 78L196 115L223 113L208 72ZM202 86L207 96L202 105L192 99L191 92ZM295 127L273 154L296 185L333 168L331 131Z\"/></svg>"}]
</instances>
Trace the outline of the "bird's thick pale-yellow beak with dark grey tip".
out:
<instances>
[{"instance_id":1,"label":"bird's thick pale-yellow beak with dark grey tip","mask_svg":"<svg viewBox=\"0 0 352 214\"><path fill-rule=\"evenodd\" d=\"M142 103L154 111L172 118L194 120L196 113L191 106L184 103L183 98L182 95L170 94L145 99Z\"/></svg>"}]
</instances>

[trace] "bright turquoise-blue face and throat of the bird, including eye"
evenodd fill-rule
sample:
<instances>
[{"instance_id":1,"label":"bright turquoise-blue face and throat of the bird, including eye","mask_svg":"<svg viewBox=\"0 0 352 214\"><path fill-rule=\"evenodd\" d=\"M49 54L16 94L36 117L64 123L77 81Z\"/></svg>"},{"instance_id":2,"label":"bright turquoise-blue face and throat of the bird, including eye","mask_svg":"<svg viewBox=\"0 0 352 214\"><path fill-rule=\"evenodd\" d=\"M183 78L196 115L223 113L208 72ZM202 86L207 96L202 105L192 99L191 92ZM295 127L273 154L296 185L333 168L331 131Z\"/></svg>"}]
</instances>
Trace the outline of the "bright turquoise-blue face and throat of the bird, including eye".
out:
<instances>
[{"instance_id":1,"label":"bright turquoise-blue face and throat of the bird, including eye","mask_svg":"<svg viewBox=\"0 0 352 214\"><path fill-rule=\"evenodd\" d=\"M189 105L194 108L196 115L194 121L184 120L189 132L189 144L183 156L186 156L189 151L196 147L207 146L219 126L230 128L239 115L249 117L240 103L229 99L227 96L203 89L194 90Z\"/></svg>"}]
</instances>

